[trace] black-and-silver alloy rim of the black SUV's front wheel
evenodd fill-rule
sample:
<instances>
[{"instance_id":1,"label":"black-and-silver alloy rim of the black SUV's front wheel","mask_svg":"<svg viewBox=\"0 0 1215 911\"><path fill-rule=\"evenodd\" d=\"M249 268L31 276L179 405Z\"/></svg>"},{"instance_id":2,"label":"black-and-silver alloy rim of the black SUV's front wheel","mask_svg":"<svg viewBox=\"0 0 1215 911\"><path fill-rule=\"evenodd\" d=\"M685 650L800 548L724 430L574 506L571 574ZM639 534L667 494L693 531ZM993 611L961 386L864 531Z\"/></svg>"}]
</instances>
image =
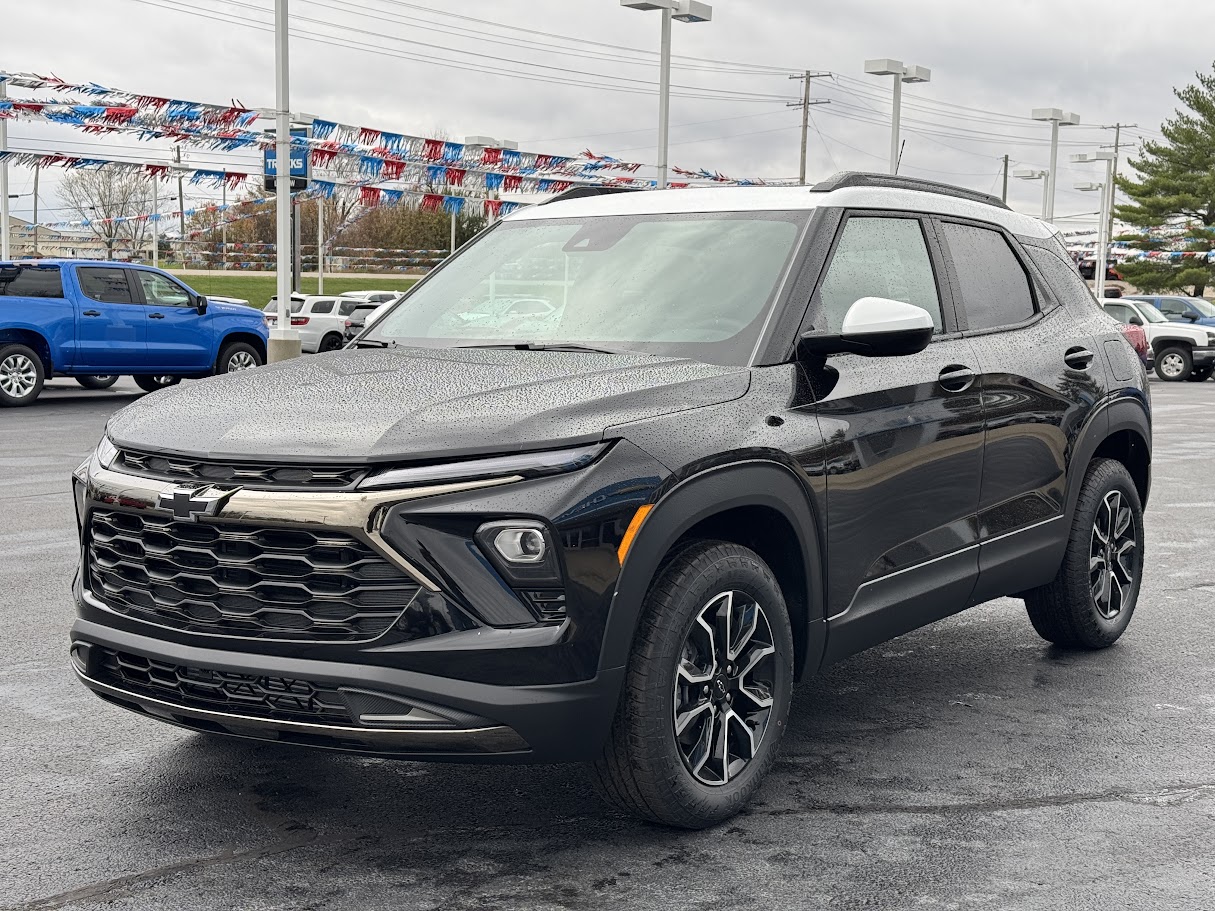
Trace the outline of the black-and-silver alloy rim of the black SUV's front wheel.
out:
<instances>
[{"instance_id":1,"label":"black-and-silver alloy rim of the black SUV's front wheel","mask_svg":"<svg viewBox=\"0 0 1215 911\"><path fill-rule=\"evenodd\" d=\"M676 669L674 735L688 771L725 785L756 757L772 715L776 647L755 599L722 592L705 604Z\"/></svg>"}]
</instances>

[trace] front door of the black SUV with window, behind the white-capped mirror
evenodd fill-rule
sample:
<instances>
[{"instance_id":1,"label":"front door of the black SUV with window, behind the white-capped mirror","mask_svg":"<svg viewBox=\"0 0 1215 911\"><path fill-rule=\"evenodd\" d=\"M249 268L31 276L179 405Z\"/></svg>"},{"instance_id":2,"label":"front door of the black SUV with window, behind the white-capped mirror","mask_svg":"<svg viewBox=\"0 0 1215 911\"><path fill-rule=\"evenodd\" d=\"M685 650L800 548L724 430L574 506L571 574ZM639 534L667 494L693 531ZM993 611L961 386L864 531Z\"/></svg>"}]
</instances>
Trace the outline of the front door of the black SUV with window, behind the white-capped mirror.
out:
<instances>
[{"instance_id":1,"label":"front door of the black SUV with window, behind the white-capped mirror","mask_svg":"<svg viewBox=\"0 0 1215 911\"><path fill-rule=\"evenodd\" d=\"M826 441L827 661L962 610L978 573L979 368L927 219L847 214L803 329L840 332L865 296L914 304L937 332L914 355L804 364Z\"/></svg>"}]
</instances>

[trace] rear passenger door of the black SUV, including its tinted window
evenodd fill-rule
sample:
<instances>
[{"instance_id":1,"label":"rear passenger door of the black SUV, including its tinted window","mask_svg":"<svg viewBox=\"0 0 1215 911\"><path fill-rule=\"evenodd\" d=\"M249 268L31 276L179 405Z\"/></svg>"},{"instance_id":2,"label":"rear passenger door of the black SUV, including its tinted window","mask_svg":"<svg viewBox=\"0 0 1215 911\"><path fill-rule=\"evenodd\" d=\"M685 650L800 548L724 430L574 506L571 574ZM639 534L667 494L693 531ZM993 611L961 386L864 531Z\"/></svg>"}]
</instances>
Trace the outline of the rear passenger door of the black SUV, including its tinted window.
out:
<instances>
[{"instance_id":1,"label":"rear passenger door of the black SUV, including its tinted window","mask_svg":"<svg viewBox=\"0 0 1215 911\"><path fill-rule=\"evenodd\" d=\"M1042 584L1058 568L1070 445L1106 375L1091 326L1056 300L1012 234L951 219L938 231L982 370L978 602ZM1074 268L1061 268L1083 288Z\"/></svg>"}]
</instances>

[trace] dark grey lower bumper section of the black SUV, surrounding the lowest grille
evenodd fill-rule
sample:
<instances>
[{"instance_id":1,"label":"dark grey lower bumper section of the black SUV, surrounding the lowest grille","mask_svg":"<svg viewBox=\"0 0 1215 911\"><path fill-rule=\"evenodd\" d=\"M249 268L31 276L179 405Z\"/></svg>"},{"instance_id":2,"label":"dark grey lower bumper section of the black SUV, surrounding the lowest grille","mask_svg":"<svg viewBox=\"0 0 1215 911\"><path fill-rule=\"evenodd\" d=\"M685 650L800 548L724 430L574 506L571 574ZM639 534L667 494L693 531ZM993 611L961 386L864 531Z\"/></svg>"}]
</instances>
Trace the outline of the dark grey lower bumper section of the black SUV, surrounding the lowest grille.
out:
<instances>
[{"instance_id":1,"label":"dark grey lower bumper section of the black SUV, surrounding the lowest grille","mask_svg":"<svg viewBox=\"0 0 1215 911\"><path fill-rule=\"evenodd\" d=\"M388 728L266 718L164 698L143 688L104 679L103 650L233 675L307 680L405 702L440 703L452 714L480 719L467 726ZM552 686L495 686L356 663L282 658L179 645L85 619L72 627L72 666L102 700L162 722L213 734L368 753L401 759L474 762L583 762L603 748L623 668L592 680Z\"/></svg>"}]
</instances>

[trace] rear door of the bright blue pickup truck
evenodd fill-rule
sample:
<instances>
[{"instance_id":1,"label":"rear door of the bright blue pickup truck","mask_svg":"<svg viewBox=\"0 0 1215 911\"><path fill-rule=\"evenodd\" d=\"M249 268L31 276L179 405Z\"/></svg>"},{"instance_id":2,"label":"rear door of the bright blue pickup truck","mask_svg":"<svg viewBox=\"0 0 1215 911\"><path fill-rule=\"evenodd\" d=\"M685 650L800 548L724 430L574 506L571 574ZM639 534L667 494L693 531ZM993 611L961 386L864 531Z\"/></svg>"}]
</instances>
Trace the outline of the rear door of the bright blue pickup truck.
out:
<instances>
[{"instance_id":1,"label":"rear door of the bright blue pickup truck","mask_svg":"<svg viewBox=\"0 0 1215 911\"><path fill-rule=\"evenodd\" d=\"M146 319L130 270L114 266L77 266L80 283L75 369L122 373L143 367L147 355Z\"/></svg>"}]
</instances>

